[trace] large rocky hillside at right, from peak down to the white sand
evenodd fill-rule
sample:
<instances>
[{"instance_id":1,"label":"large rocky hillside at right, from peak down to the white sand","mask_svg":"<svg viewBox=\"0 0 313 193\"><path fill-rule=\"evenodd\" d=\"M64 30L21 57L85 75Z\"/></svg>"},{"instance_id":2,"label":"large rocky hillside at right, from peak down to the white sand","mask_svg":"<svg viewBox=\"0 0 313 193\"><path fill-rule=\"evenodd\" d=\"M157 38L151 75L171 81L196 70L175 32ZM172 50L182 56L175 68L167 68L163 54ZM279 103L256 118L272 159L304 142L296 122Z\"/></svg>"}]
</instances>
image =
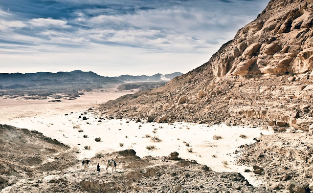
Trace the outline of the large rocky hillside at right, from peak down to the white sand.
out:
<instances>
[{"instance_id":1,"label":"large rocky hillside at right, from peak down to the white sand","mask_svg":"<svg viewBox=\"0 0 313 193\"><path fill-rule=\"evenodd\" d=\"M309 130L312 20L312 0L271 0L207 63L161 88L111 101L104 114Z\"/></svg>"}]
</instances>

